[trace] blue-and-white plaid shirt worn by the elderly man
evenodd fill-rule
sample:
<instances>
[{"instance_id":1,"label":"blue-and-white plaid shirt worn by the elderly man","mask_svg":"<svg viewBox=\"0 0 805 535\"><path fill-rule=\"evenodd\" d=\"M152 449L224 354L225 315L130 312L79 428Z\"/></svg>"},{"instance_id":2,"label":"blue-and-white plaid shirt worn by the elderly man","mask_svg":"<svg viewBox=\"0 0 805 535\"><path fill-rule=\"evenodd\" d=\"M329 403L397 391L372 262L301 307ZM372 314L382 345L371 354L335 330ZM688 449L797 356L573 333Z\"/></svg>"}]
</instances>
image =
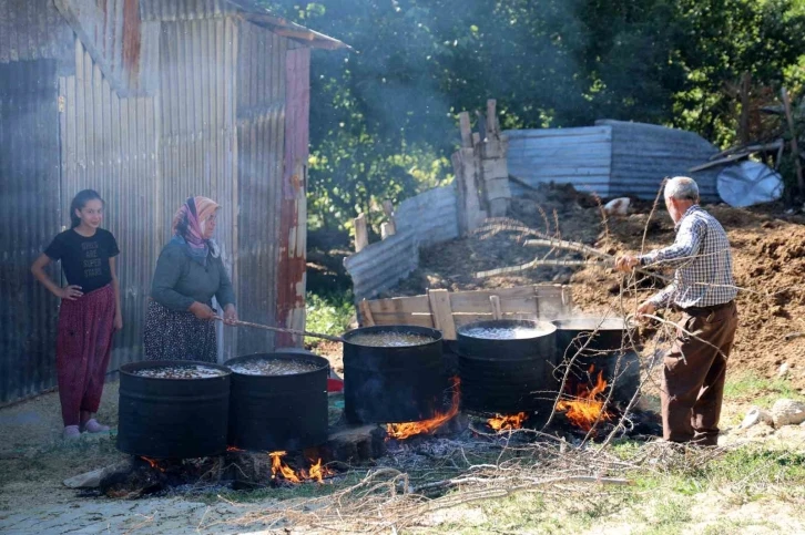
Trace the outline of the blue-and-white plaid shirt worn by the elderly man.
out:
<instances>
[{"instance_id":1,"label":"blue-and-white plaid shirt worn by the elderly man","mask_svg":"<svg viewBox=\"0 0 805 535\"><path fill-rule=\"evenodd\" d=\"M724 227L699 205L687 208L676 224L671 247L638 257L643 266L674 267L674 280L649 299L658 308L672 301L680 308L730 302L737 288L732 276L732 253Z\"/></svg>"}]
</instances>

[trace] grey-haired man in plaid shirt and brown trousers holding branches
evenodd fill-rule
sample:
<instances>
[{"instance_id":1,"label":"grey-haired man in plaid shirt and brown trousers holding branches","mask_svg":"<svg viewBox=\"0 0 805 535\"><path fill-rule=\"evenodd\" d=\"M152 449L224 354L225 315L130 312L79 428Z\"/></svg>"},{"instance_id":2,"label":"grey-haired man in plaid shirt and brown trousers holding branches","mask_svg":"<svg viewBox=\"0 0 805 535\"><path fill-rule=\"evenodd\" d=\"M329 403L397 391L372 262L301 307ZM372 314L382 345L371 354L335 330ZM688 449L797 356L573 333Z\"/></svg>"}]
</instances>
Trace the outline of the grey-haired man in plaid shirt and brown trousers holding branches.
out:
<instances>
[{"instance_id":1,"label":"grey-haired man in plaid shirt and brown trousers holding branches","mask_svg":"<svg viewBox=\"0 0 805 535\"><path fill-rule=\"evenodd\" d=\"M715 445L737 311L732 254L724 228L699 206L699 186L686 176L665 185L665 206L676 239L642 256L621 256L615 267L675 268L673 281L638 307L638 317L671 306L682 311L681 329L665 354L662 381L663 438Z\"/></svg>"}]
</instances>

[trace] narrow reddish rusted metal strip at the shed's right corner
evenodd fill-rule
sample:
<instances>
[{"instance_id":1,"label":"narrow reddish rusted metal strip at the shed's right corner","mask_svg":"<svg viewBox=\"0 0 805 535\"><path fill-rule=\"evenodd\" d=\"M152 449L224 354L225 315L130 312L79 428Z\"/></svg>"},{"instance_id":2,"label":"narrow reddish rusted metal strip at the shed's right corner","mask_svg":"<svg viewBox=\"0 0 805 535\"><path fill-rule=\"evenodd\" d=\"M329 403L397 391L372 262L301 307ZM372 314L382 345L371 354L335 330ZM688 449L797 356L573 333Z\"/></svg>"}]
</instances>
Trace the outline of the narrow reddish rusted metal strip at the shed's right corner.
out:
<instances>
[{"instance_id":1,"label":"narrow reddish rusted metal strip at the shed's right corner","mask_svg":"<svg viewBox=\"0 0 805 535\"><path fill-rule=\"evenodd\" d=\"M310 49L288 50L286 56L285 168L279 208L276 315L279 326L302 329L305 325ZM300 342L287 335L277 337L278 346Z\"/></svg>"}]
</instances>

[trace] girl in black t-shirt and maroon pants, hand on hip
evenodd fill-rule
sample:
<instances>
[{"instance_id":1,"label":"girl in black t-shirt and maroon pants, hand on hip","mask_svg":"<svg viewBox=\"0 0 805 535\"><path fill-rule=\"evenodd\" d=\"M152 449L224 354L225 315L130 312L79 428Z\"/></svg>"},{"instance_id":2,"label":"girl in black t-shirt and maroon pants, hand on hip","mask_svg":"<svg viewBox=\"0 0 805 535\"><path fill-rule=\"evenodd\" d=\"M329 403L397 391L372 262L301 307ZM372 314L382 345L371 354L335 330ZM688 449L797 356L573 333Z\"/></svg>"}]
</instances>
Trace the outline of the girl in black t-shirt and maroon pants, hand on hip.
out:
<instances>
[{"instance_id":1,"label":"girl in black t-shirt and maroon pants, hand on hip","mask_svg":"<svg viewBox=\"0 0 805 535\"><path fill-rule=\"evenodd\" d=\"M55 363L64 438L109 431L93 418L101 403L112 353L112 337L123 328L112 233L101 228L103 199L84 189L70 205L71 228L59 234L33 263L31 271L61 299ZM53 282L44 267L61 260L68 286Z\"/></svg>"}]
</instances>

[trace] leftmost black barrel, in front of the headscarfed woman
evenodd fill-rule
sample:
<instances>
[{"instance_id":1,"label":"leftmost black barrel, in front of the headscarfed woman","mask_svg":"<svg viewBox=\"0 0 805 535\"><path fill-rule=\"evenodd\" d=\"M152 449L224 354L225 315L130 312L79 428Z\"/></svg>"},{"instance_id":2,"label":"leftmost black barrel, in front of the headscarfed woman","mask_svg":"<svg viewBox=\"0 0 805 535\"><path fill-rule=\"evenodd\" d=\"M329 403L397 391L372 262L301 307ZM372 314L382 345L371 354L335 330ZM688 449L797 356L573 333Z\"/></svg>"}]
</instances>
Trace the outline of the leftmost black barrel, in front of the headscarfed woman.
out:
<instances>
[{"instance_id":1,"label":"leftmost black barrel, in front of the headscarfed woman","mask_svg":"<svg viewBox=\"0 0 805 535\"><path fill-rule=\"evenodd\" d=\"M223 374L157 379L135 374L162 367L204 367ZM191 459L226 451L230 370L192 361L147 361L120 368L118 449L154 459Z\"/></svg>"}]
</instances>

